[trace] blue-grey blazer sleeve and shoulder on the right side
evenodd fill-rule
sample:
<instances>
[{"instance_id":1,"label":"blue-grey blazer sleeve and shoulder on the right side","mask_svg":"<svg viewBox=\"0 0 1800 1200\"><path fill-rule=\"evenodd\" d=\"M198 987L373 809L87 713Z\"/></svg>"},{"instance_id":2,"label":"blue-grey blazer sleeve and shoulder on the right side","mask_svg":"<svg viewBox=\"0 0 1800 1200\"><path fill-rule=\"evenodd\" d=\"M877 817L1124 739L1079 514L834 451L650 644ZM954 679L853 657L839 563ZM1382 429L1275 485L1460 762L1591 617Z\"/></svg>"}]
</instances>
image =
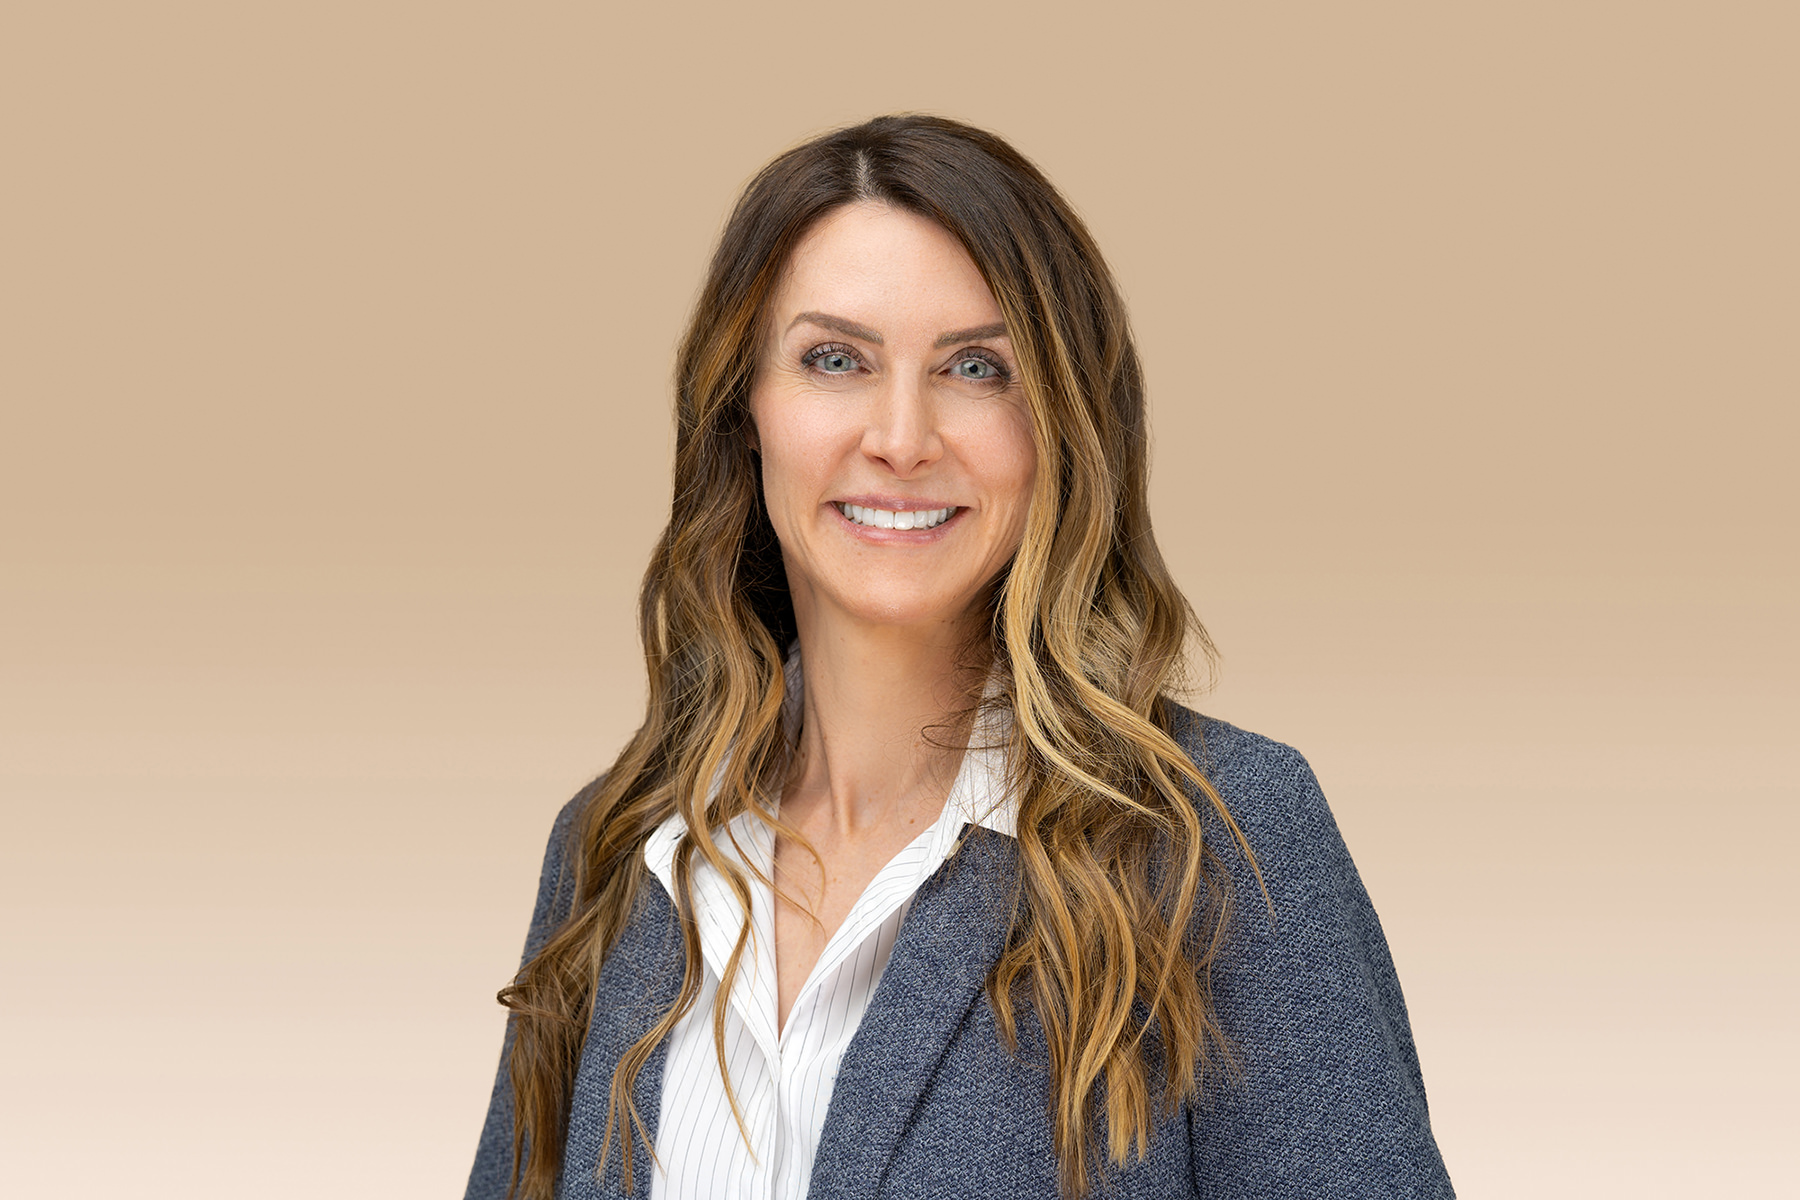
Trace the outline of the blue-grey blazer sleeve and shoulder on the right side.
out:
<instances>
[{"instance_id":1,"label":"blue-grey blazer sleeve and shoulder on the right side","mask_svg":"<svg viewBox=\"0 0 1800 1200\"><path fill-rule=\"evenodd\" d=\"M1237 885L1213 970L1237 1061L1190 1110L1199 1195L1453 1196L1388 941L1312 768L1229 725L1206 732L1217 763L1202 770L1255 851L1274 912L1213 822Z\"/></svg>"}]
</instances>

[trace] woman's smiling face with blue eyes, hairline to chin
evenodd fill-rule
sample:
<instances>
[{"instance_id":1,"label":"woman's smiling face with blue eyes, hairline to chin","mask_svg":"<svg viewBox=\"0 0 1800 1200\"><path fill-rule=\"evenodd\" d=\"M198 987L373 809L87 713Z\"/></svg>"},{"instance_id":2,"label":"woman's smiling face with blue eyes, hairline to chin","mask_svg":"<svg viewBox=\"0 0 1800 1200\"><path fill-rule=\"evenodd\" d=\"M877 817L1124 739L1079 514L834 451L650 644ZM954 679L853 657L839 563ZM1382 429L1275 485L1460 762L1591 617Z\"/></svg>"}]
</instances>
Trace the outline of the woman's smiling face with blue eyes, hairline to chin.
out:
<instances>
[{"instance_id":1,"label":"woman's smiling face with blue eyes, hairline to chin","mask_svg":"<svg viewBox=\"0 0 1800 1200\"><path fill-rule=\"evenodd\" d=\"M1024 534L1037 448L1001 308L940 225L878 203L794 250L751 392L801 628L959 624Z\"/></svg>"}]
</instances>

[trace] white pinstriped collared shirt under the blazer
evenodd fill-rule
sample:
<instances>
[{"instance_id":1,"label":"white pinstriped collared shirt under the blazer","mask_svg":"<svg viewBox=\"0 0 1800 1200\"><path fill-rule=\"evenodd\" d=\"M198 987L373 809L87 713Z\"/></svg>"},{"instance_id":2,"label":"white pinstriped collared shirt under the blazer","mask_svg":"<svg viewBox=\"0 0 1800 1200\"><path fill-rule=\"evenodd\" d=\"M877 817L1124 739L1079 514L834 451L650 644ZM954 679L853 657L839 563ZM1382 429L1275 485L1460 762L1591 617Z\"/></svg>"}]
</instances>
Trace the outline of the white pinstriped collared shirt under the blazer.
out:
<instances>
[{"instance_id":1,"label":"white pinstriped collared shirt under the blazer","mask_svg":"<svg viewBox=\"0 0 1800 1200\"><path fill-rule=\"evenodd\" d=\"M799 655L788 657L788 723L799 718ZM751 943L725 1006L725 1063L738 1096L749 1144L731 1115L725 1081L713 1047L713 999L736 945L743 910L704 858L693 858L693 905L700 928L706 977L700 997L675 1025L662 1069L662 1114L652 1200L799 1200L812 1178L812 1160L824 1130L837 1067L875 984L887 964L900 923L920 883L943 865L965 824L1015 837L1015 804L1006 793L1004 745L997 721L983 721L950 795L911 846L882 867L832 934L778 1033L774 973L774 892L751 878ZM740 856L718 833L729 856L774 869L774 835L745 813L731 822ZM686 833L680 813L644 842L644 862L675 896L675 847Z\"/></svg>"}]
</instances>

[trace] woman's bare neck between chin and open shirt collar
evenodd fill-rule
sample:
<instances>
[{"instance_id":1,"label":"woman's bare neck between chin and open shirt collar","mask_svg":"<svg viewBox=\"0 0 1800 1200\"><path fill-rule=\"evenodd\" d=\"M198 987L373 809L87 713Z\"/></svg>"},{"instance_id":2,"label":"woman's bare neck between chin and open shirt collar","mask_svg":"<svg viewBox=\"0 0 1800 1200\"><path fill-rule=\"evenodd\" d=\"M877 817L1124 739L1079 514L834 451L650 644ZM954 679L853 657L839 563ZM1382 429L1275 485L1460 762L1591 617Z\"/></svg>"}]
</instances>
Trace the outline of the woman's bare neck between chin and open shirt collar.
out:
<instances>
[{"instance_id":1,"label":"woman's bare neck between chin and open shirt collar","mask_svg":"<svg viewBox=\"0 0 1800 1200\"><path fill-rule=\"evenodd\" d=\"M830 826L846 837L936 819L981 696L963 628L803 617L799 642L805 718L783 804L814 820L828 808Z\"/></svg>"}]
</instances>

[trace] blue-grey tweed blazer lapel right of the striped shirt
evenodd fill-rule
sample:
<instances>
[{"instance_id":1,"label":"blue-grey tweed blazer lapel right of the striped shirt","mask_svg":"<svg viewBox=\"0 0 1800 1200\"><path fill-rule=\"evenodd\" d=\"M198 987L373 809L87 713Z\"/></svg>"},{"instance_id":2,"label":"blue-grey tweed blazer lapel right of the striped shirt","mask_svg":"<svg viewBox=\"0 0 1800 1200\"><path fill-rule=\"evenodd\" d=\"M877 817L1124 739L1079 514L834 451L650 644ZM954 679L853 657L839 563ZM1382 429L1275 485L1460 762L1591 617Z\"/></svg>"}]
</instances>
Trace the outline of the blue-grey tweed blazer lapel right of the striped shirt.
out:
<instances>
[{"instance_id":1,"label":"blue-grey tweed blazer lapel right of the striped shirt","mask_svg":"<svg viewBox=\"0 0 1800 1200\"><path fill-rule=\"evenodd\" d=\"M880 1193L902 1132L1004 950L1017 844L979 826L968 826L963 838L914 894L844 1051L814 1159L815 1196Z\"/></svg>"}]
</instances>

